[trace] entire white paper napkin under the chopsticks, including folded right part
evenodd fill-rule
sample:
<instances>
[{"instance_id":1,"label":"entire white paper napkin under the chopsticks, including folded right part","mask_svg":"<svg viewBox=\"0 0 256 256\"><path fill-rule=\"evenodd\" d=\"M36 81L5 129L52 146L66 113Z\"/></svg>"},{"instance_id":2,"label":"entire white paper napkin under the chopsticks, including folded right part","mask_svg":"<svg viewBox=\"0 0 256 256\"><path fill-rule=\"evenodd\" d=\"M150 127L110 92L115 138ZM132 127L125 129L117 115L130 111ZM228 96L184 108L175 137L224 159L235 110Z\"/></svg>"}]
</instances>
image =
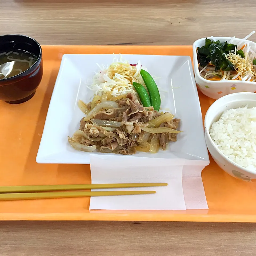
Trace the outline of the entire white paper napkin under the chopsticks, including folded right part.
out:
<instances>
[{"instance_id":1,"label":"entire white paper napkin under the chopsticks, including folded right part","mask_svg":"<svg viewBox=\"0 0 256 256\"><path fill-rule=\"evenodd\" d=\"M90 210L208 209L201 179L206 161L90 155L90 164L94 184L168 183L163 187L115 189L156 190L156 194L91 197Z\"/></svg>"}]
</instances>

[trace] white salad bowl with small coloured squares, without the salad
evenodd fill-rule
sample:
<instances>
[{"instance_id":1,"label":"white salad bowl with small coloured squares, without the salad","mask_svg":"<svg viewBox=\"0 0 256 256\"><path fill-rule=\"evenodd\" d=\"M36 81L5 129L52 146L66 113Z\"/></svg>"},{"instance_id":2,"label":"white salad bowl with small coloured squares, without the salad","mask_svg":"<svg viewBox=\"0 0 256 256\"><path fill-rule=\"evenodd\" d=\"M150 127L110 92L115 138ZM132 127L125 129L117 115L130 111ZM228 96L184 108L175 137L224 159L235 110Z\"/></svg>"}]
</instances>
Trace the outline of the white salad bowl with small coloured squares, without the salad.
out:
<instances>
[{"instance_id":1,"label":"white salad bowl with small coloured squares, without the salad","mask_svg":"<svg viewBox=\"0 0 256 256\"><path fill-rule=\"evenodd\" d=\"M216 40L221 42L229 42L231 37L214 37ZM241 39L235 38L232 42L237 44ZM256 50L256 43L246 40L246 44L249 44L252 49ZM194 63L194 73L195 81L197 83L198 89L205 94L206 96L219 99L225 95L231 93L240 93L240 92L251 92L256 91L256 82L249 81L209 81L201 77L198 70L198 61L197 61L197 47L202 47L205 45L205 38L198 39L193 44L193 63Z\"/></svg>"}]
</instances>

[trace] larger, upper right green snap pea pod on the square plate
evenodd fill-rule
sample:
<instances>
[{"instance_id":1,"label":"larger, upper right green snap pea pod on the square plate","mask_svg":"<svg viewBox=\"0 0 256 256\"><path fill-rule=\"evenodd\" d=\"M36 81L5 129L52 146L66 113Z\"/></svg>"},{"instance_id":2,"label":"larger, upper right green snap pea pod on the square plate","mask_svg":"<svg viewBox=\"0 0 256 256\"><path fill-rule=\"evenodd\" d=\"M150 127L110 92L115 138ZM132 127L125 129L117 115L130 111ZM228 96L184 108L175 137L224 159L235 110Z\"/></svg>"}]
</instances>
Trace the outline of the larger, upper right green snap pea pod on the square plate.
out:
<instances>
[{"instance_id":1,"label":"larger, upper right green snap pea pod on the square plate","mask_svg":"<svg viewBox=\"0 0 256 256\"><path fill-rule=\"evenodd\" d=\"M157 88L157 85L154 81L154 79L151 77L151 75L141 69L141 77L147 87L147 90L149 92L149 98L150 98L150 102L151 102L151 106L154 107L154 110L159 110L160 109L160 105L161 105L161 98L160 98L160 94Z\"/></svg>"}]
</instances>

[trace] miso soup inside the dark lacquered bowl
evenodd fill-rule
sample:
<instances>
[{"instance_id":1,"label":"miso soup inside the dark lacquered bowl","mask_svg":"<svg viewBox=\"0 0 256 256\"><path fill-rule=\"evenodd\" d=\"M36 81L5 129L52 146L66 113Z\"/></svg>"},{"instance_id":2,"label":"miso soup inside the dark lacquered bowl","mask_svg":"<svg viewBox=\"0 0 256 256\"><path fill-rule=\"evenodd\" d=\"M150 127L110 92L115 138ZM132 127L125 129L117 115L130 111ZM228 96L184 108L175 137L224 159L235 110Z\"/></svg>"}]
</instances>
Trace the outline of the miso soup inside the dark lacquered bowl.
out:
<instances>
[{"instance_id":1,"label":"miso soup inside the dark lacquered bowl","mask_svg":"<svg viewBox=\"0 0 256 256\"><path fill-rule=\"evenodd\" d=\"M14 49L0 53L0 79L13 77L29 69L37 56L23 50Z\"/></svg>"}]
</instances>

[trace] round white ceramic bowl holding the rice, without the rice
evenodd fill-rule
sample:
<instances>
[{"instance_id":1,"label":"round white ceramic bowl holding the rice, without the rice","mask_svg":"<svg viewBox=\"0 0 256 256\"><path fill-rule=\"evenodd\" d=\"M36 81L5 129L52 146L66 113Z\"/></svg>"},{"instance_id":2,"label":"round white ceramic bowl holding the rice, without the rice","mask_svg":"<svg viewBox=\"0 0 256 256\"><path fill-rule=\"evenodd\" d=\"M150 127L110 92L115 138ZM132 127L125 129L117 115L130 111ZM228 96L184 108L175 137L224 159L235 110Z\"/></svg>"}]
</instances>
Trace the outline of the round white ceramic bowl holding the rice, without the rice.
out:
<instances>
[{"instance_id":1,"label":"round white ceramic bowl holding the rice, without the rice","mask_svg":"<svg viewBox=\"0 0 256 256\"><path fill-rule=\"evenodd\" d=\"M205 115L205 140L211 156L218 166L221 167L221 169L233 177L242 179L244 181L251 181L251 179L256 179L256 173L248 171L246 168L237 165L227 158L218 149L218 147L215 146L209 134L209 129L211 128L213 122L218 121L219 117L224 111L232 108L236 109L239 107L245 107L246 105L248 105L249 108L256 106L255 93L235 93L226 95L215 101L209 107Z\"/></svg>"}]
</instances>

